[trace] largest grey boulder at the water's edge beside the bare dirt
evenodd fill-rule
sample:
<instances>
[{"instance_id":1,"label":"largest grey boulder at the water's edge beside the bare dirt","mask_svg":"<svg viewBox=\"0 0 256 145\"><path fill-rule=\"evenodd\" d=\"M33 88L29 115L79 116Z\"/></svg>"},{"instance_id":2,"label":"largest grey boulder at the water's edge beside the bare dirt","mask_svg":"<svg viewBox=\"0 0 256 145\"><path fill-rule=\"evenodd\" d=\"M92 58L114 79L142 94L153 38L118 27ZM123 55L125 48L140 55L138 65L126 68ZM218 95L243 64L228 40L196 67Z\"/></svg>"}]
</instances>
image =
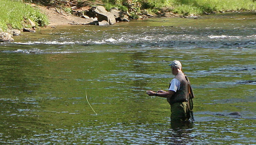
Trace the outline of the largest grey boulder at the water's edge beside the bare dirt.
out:
<instances>
[{"instance_id":1,"label":"largest grey boulder at the water's edge beside the bare dirt","mask_svg":"<svg viewBox=\"0 0 256 145\"><path fill-rule=\"evenodd\" d=\"M92 7L90 9L90 12L93 13L93 17L98 18L99 22L105 20L108 22L109 25L113 25L116 23L116 19L113 13L108 12L103 6Z\"/></svg>"}]
</instances>

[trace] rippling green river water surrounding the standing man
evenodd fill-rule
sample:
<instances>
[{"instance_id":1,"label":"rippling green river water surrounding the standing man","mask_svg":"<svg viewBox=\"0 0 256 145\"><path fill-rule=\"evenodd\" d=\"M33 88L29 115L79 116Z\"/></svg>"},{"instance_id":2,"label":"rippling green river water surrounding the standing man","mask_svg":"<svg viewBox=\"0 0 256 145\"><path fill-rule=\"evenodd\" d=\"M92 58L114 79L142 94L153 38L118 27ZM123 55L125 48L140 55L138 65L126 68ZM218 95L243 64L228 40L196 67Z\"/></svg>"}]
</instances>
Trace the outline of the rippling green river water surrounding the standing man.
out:
<instances>
[{"instance_id":1,"label":"rippling green river water surrounding the standing man","mask_svg":"<svg viewBox=\"0 0 256 145\"><path fill-rule=\"evenodd\" d=\"M0 43L0 144L256 144L255 13L14 39ZM173 60L195 93L196 121L178 128L166 99L146 95L168 88Z\"/></svg>"}]
</instances>

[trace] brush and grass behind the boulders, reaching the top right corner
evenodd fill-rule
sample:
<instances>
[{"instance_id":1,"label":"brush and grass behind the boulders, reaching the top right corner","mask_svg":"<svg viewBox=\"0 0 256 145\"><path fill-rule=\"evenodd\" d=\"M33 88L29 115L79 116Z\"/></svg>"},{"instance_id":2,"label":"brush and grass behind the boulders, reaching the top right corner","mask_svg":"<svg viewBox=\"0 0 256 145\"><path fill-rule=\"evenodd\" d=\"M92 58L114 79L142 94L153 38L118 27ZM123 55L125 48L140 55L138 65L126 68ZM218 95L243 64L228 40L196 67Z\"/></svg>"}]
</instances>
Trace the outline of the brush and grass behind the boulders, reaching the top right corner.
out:
<instances>
[{"instance_id":1,"label":"brush and grass behind the boulders, reaching the top right corner","mask_svg":"<svg viewBox=\"0 0 256 145\"><path fill-rule=\"evenodd\" d=\"M74 7L103 5L107 10L117 7L128 11L132 18L139 14L173 12L180 15L200 15L223 11L256 11L256 0L26 0L45 6L57 6L66 12Z\"/></svg>"}]
</instances>

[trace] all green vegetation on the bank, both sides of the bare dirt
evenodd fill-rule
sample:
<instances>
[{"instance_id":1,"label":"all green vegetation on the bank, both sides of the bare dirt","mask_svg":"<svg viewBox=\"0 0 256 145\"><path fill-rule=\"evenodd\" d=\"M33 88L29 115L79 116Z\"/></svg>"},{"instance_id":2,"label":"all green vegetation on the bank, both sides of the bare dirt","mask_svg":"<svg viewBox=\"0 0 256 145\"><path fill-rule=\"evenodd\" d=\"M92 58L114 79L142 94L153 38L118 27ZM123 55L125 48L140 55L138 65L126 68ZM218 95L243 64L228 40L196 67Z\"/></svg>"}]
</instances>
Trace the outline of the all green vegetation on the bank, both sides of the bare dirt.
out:
<instances>
[{"instance_id":1,"label":"all green vegetation on the bank, both sides of the bare dirt","mask_svg":"<svg viewBox=\"0 0 256 145\"><path fill-rule=\"evenodd\" d=\"M27 27L28 18L38 26L48 24L47 16L25 2L55 7L68 13L81 7L96 5L102 5L107 10L116 7L129 12L130 19L138 19L145 14L166 16L165 13L172 13L175 16L189 16L225 11L256 11L256 0L1 0L2 31Z\"/></svg>"}]
</instances>

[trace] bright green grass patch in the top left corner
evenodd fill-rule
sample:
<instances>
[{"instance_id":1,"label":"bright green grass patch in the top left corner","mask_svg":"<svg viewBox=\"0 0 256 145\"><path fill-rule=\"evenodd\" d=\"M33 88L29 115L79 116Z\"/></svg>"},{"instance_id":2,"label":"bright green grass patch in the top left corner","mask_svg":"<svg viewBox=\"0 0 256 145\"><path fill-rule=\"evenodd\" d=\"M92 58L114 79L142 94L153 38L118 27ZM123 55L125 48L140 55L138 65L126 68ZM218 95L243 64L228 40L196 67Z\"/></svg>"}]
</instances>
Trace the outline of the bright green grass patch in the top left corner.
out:
<instances>
[{"instance_id":1,"label":"bright green grass patch in the top left corner","mask_svg":"<svg viewBox=\"0 0 256 145\"><path fill-rule=\"evenodd\" d=\"M0 13L0 28L3 31L29 27L25 23L28 18L37 23L38 26L45 26L48 23L44 14L21 0L0 0Z\"/></svg>"}]
</instances>

